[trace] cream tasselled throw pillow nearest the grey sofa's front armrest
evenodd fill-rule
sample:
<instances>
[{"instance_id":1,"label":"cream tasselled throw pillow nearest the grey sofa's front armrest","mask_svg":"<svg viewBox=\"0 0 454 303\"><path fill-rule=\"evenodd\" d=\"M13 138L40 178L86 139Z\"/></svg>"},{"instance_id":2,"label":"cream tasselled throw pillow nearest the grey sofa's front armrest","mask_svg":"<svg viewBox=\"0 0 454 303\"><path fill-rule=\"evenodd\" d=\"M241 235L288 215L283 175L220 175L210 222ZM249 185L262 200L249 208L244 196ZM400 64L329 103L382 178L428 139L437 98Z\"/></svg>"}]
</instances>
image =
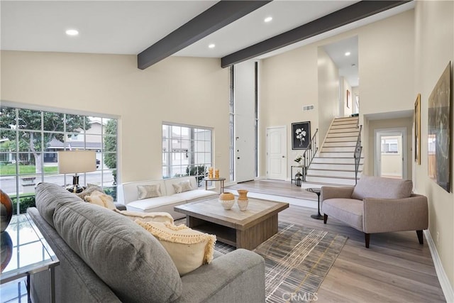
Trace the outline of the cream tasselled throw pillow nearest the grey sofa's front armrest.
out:
<instances>
[{"instance_id":1,"label":"cream tasselled throw pillow nearest the grey sofa's front armrest","mask_svg":"<svg viewBox=\"0 0 454 303\"><path fill-rule=\"evenodd\" d=\"M179 275L184 275L213 260L216 236L201 233L185 226L169 223L143 222L137 224L149 231L164 246L172 258Z\"/></svg>"}]
</instances>

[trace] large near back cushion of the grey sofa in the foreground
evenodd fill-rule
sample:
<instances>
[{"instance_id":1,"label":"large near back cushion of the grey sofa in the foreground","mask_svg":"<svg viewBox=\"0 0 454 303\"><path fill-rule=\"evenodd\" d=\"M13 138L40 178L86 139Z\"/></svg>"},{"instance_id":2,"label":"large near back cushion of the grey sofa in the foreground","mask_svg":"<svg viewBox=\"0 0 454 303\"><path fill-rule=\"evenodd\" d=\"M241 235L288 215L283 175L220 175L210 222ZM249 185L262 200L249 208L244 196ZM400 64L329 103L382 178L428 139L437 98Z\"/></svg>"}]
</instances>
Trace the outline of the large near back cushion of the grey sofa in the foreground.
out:
<instances>
[{"instance_id":1,"label":"large near back cushion of the grey sofa in the foreground","mask_svg":"<svg viewBox=\"0 0 454 303\"><path fill-rule=\"evenodd\" d=\"M67 245L122 302L172 302L182 293L170 256L130 219L96 205L72 202L57 204L54 224Z\"/></svg>"}]
</instances>

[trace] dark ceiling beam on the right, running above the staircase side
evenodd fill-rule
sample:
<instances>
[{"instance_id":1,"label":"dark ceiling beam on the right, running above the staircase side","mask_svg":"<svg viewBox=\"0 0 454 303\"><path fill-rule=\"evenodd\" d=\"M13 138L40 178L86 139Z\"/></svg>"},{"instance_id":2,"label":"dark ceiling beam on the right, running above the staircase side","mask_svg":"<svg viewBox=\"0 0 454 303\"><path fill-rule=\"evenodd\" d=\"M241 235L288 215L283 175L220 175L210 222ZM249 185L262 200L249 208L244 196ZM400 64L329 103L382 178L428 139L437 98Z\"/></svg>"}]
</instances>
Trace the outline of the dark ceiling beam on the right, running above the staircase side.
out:
<instances>
[{"instance_id":1,"label":"dark ceiling beam on the right, running above the staircase side","mask_svg":"<svg viewBox=\"0 0 454 303\"><path fill-rule=\"evenodd\" d=\"M279 48L283 48L284 46L297 43L301 40L314 37L315 35L331 31L334 28L345 26L348 23L372 16L375 13L386 11L387 9L392 9L395 6L406 4L407 2L410 1L366 0L357 2L290 31L276 35L275 37L267 40L263 40L255 45L251 45L248 48L238 50L236 53L226 55L221 58L221 67L228 67L230 65L252 59L253 57L270 53L273 50L277 50Z\"/></svg>"}]
</instances>

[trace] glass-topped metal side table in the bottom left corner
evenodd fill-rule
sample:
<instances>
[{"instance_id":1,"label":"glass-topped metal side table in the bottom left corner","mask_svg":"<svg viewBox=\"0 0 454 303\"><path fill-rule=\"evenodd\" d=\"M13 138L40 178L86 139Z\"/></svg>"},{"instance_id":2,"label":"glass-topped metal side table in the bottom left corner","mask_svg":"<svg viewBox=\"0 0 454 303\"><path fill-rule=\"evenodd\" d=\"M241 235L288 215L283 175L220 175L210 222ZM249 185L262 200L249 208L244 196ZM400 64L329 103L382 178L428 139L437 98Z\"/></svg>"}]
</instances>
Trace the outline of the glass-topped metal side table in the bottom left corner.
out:
<instances>
[{"instance_id":1,"label":"glass-topped metal side table in the bottom left corner","mask_svg":"<svg viewBox=\"0 0 454 303\"><path fill-rule=\"evenodd\" d=\"M55 266L60 261L45 241L33 220L27 214L13 216L6 231L1 237L9 237L11 241L5 248L10 251L14 258L9 260L8 265L0 273L0 285L6 282L27 277L26 287L28 302L30 299L30 275L43 270L48 270L50 275L50 302L55 302ZM4 247L1 248L2 252Z\"/></svg>"}]
</instances>

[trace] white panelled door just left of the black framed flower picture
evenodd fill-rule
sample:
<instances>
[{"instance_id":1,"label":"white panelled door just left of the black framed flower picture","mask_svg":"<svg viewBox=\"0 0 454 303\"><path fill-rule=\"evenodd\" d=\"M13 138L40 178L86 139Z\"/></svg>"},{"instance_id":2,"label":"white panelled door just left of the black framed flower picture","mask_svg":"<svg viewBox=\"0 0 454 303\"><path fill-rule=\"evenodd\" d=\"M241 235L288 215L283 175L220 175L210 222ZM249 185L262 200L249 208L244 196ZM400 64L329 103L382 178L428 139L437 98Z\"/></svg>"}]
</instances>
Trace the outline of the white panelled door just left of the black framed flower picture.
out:
<instances>
[{"instance_id":1,"label":"white panelled door just left of the black framed flower picture","mask_svg":"<svg viewBox=\"0 0 454 303\"><path fill-rule=\"evenodd\" d=\"M287 127L267 128L267 178L287 178Z\"/></svg>"}]
</instances>

